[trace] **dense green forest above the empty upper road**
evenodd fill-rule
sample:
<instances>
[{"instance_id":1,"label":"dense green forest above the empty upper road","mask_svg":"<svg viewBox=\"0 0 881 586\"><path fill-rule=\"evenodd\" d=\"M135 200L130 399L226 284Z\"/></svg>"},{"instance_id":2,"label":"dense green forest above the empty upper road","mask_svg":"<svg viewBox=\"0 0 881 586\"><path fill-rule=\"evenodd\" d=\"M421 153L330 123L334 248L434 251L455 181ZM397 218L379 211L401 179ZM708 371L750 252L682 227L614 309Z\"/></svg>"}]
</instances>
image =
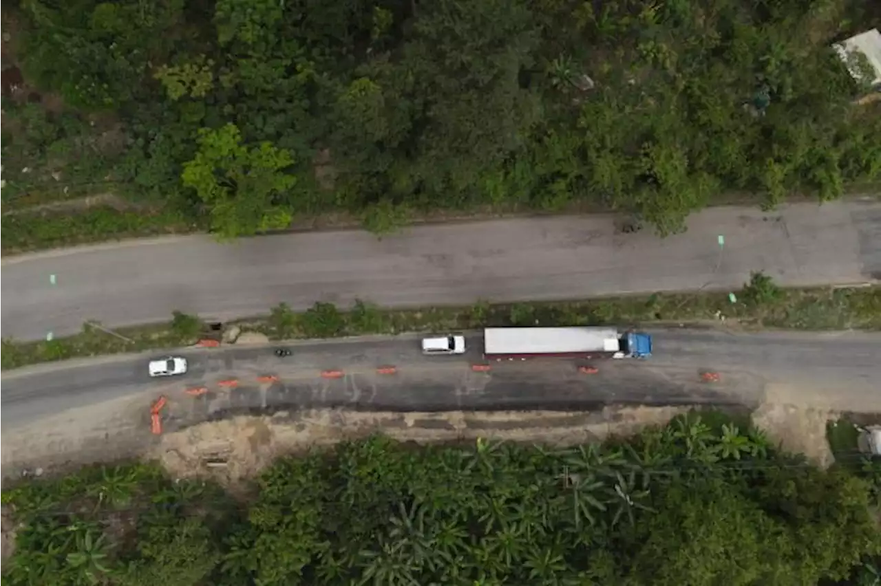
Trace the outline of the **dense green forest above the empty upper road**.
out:
<instances>
[{"instance_id":1,"label":"dense green forest above the empty upper road","mask_svg":"<svg viewBox=\"0 0 881 586\"><path fill-rule=\"evenodd\" d=\"M224 237L487 204L674 231L723 190L828 200L881 170L881 117L829 48L881 22L868 0L22 5L26 79L99 125L7 100L3 157Z\"/></svg>"}]
</instances>

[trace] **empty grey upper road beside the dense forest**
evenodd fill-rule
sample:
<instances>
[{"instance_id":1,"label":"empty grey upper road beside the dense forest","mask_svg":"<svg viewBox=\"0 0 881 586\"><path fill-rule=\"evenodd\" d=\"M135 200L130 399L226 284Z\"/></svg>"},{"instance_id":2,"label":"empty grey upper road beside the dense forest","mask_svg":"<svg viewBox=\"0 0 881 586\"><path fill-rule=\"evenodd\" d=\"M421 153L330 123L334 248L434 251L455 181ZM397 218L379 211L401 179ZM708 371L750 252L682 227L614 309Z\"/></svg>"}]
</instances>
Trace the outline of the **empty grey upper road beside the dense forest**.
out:
<instances>
[{"instance_id":1,"label":"empty grey upper road beside the dense forest","mask_svg":"<svg viewBox=\"0 0 881 586\"><path fill-rule=\"evenodd\" d=\"M230 319L283 301L403 307L735 289L754 270L785 285L876 281L881 204L706 209L664 239L618 234L610 216L565 216L427 225L382 239L193 236L11 257L0 260L0 337L75 333L86 319L158 321L175 309Z\"/></svg>"}]
</instances>

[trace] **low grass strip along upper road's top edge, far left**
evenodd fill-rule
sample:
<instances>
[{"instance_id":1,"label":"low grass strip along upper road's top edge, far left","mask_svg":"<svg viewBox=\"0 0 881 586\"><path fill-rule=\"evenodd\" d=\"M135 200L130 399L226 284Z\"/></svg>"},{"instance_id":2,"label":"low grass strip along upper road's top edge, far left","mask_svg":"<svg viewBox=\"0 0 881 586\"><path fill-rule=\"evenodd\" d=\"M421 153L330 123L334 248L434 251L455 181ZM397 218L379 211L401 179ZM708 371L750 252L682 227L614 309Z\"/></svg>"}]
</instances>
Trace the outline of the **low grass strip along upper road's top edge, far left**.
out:
<instances>
[{"instance_id":1,"label":"low grass strip along upper road's top edge, far left","mask_svg":"<svg viewBox=\"0 0 881 586\"><path fill-rule=\"evenodd\" d=\"M78 213L44 212L0 216L0 254L192 232L204 226L176 212L121 211L109 206Z\"/></svg>"}]
</instances>

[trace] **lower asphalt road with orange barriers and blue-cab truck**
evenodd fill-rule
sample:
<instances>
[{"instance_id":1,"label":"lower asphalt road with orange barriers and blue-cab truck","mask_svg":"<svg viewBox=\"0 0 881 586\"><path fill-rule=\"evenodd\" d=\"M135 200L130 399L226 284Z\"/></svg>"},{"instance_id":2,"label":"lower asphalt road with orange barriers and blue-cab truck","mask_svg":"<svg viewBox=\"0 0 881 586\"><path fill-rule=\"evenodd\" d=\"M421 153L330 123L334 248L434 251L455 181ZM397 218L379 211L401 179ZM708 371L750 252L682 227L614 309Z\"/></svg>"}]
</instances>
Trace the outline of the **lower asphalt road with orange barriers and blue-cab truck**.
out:
<instances>
[{"instance_id":1,"label":"lower asphalt road with orange barriers and blue-cab truck","mask_svg":"<svg viewBox=\"0 0 881 586\"><path fill-rule=\"evenodd\" d=\"M182 352L190 370L183 377L151 379L147 355L50 363L0 375L0 429L9 430L107 399L138 393L166 394L185 424L230 413L310 407L364 410L447 411L589 409L607 404L715 404L755 407L768 394L787 403L881 411L877 356L881 335L867 333L721 333L656 330L655 355L647 361L596 363L581 374L573 360L482 363L482 341L468 337L463 356L425 357L418 338L371 337L293 344L278 358L272 348ZM378 374L394 365L393 375ZM322 370L344 377L322 378ZM700 381L702 370L721 373L716 384ZM257 377L278 377L262 384ZM236 379L224 389L218 382ZM844 382L846 381L846 382ZM185 391L209 393L192 399ZM149 401L144 399L144 413Z\"/></svg>"}]
</instances>

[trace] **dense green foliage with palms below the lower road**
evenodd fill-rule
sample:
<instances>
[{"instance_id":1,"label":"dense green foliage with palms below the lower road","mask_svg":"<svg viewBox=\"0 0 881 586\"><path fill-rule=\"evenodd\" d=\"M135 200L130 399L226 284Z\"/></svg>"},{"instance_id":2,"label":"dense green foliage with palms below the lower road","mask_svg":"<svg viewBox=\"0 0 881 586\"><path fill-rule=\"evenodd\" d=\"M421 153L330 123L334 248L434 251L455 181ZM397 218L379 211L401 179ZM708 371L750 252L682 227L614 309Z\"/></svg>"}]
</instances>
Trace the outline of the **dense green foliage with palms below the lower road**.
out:
<instances>
[{"instance_id":1,"label":"dense green foliage with palms below the lower road","mask_svg":"<svg viewBox=\"0 0 881 586\"><path fill-rule=\"evenodd\" d=\"M828 584L881 552L873 486L719 414L565 450L374 437L281 459L240 506L97 468L6 495L4 584Z\"/></svg>"}]
</instances>

